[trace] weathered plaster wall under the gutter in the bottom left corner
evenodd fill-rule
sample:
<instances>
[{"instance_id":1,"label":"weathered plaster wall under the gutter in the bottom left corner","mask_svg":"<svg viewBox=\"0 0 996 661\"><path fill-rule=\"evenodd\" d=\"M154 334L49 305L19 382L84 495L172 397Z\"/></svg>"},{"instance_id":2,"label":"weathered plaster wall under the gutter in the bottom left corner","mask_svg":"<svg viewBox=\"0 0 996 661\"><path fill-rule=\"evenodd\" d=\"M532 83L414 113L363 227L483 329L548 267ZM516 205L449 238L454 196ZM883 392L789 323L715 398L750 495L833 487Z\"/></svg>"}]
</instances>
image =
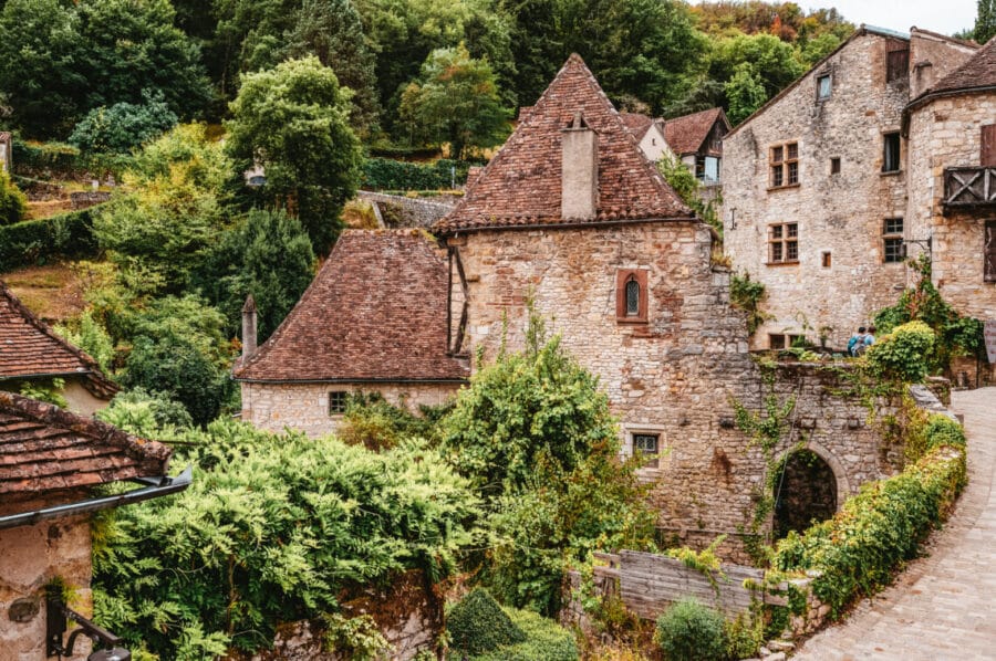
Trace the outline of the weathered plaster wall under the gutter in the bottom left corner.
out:
<instances>
[{"instance_id":1,"label":"weathered plaster wall under the gutter in the bottom left corner","mask_svg":"<svg viewBox=\"0 0 996 661\"><path fill-rule=\"evenodd\" d=\"M75 494L75 500L85 494ZM33 501L0 504L0 514L29 512L66 502ZM60 577L73 590L70 607L90 616L90 520L72 516L32 526L0 531L0 659L43 661L45 657L45 584ZM68 638L68 636L66 636ZM90 640L80 637L75 654L90 653Z\"/></svg>"}]
</instances>

